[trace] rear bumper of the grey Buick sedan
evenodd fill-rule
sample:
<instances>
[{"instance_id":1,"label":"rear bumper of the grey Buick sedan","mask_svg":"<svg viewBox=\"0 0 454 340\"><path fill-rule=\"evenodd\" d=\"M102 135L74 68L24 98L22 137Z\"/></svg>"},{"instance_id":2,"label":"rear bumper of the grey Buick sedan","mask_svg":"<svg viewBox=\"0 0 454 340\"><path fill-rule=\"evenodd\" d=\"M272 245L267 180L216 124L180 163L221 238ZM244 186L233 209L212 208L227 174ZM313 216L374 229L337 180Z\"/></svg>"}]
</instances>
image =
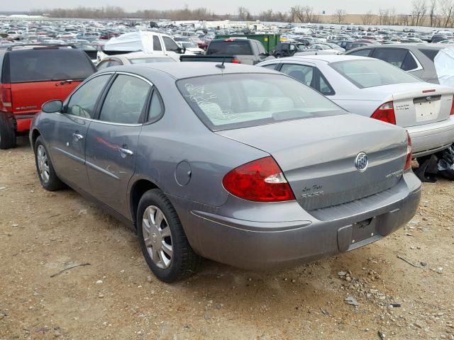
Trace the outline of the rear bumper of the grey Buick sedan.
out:
<instances>
[{"instance_id":1,"label":"rear bumper of the grey Buick sedan","mask_svg":"<svg viewBox=\"0 0 454 340\"><path fill-rule=\"evenodd\" d=\"M304 212L301 220L252 222L201 210L179 211L179 215L184 216L190 244L201 256L240 268L268 269L314 261L382 239L411 220L420 199L421 182L409 172L389 191L353 203L311 214L296 203L294 209ZM175 198L171 200L177 203ZM280 214L282 220L289 218L287 208L273 204L267 209L276 209L273 213ZM253 216L254 211L250 214ZM355 223L369 219L375 224L375 232L355 240Z\"/></svg>"}]
</instances>

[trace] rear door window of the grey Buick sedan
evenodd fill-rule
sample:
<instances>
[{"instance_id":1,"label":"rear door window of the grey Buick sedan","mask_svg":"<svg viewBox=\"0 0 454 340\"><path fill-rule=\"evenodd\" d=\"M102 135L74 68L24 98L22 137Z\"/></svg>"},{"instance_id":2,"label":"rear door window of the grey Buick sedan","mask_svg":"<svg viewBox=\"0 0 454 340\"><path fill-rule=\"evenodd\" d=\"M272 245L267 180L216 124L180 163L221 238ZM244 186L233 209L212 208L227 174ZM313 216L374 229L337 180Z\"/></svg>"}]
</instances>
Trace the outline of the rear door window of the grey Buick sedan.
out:
<instances>
[{"instance_id":1,"label":"rear door window of the grey Buick sedan","mask_svg":"<svg viewBox=\"0 0 454 340\"><path fill-rule=\"evenodd\" d=\"M148 101L151 86L137 77L120 74L107 93L99 120L138 124Z\"/></svg>"}]
</instances>

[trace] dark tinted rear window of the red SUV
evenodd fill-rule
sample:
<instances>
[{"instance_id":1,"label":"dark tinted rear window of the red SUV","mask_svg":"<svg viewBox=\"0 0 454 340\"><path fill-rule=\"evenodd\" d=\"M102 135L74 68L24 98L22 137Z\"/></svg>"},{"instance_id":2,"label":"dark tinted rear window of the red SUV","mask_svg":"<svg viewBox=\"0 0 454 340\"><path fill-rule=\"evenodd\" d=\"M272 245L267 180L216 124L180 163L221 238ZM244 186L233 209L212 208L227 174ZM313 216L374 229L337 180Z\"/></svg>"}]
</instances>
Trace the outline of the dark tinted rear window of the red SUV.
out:
<instances>
[{"instance_id":1,"label":"dark tinted rear window of the red SUV","mask_svg":"<svg viewBox=\"0 0 454 340\"><path fill-rule=\"evenodd\" d=\"M84 52L65 50L18 50L9 55L10 81L81 80L94 73Z\"/></svg>"}]
</instances>

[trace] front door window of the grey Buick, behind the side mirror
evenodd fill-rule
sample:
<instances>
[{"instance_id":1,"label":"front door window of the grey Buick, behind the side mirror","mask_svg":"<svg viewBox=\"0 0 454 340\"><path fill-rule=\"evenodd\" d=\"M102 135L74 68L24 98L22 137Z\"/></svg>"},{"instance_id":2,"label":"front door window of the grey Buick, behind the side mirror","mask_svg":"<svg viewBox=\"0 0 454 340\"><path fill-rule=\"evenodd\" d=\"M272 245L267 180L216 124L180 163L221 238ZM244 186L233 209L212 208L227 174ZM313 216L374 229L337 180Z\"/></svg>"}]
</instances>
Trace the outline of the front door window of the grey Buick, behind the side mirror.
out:
<instances>
[{"instance_id":1,"label":"front door window of the grey Buick, behind the side mirror","mask_svg":"<svg viewBox=\"0 0 454 340\"><path fill-rule=\"evenodd\" d=\"M66 113L82 118L93 118L96 102L110 77L111 74L102 74L80 86L71 96Z\"/></svg>"}]
</instances>

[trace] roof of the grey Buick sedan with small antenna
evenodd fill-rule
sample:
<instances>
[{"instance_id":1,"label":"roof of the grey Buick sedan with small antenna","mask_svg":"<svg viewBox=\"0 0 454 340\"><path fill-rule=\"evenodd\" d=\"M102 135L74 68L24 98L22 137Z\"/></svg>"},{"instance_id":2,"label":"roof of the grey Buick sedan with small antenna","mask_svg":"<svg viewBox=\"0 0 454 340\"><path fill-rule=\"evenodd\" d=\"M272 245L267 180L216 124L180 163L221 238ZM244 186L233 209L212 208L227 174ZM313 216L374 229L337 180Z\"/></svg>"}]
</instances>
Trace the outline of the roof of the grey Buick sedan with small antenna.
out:
<instances>
[{"instance_id":1,"label":"roof of the grey Buick sedan with small antenna","mask_svg":"<svg viewBox=\"0 0 454 340\"><path fill-rule=\"evenodd\" d=\"M225 68L220 68L216 67L216 64L220 65L221 62L160 62L153 64L135 64L133 66L108 67L101 72L131 72L146 77L148 70L155 70L167 73L175 79L203 77L215 74L278 73L271 69L266 69L265 67L256 67L252 65L225 63Z\"/></svg>"}]
</instances>

